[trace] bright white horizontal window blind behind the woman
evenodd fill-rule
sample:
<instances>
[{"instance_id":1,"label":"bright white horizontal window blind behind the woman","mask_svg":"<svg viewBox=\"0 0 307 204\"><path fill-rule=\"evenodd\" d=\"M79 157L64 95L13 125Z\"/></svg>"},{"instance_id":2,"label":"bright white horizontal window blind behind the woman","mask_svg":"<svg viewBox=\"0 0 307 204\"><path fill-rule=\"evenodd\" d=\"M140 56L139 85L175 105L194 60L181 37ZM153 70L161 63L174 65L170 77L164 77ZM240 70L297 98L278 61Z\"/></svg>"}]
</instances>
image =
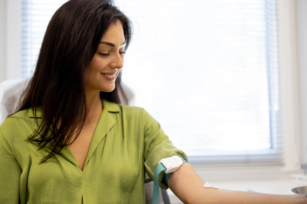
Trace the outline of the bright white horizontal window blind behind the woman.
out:
<instances>
[{"instance_id":1,"label":"bright white horizontal window blind behind the woman","mask_svg":"<svg viewBox=\"0 0 307 204\"><path fill-rule=\"evenodd\" d=\"M23 1L24 77L64 2ZM123 81L189 161L282 163L275 1L117 5L135 27Z\"/></svg>"}]
</instances>

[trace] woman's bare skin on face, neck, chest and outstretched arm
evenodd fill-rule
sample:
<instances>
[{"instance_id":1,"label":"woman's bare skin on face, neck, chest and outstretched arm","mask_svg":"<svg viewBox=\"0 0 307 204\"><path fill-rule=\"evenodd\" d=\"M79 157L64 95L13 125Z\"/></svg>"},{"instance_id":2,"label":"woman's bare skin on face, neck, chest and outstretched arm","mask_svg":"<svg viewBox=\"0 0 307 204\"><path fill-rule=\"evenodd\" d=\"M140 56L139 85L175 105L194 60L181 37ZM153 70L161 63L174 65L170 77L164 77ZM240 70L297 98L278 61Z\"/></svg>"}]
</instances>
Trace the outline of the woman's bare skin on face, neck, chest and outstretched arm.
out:
<instances>
[{"instance_id":1,"label":"woman's bare skin on face, neck, chest and outstretched arm","mask_svg":"<svg viewBox=\"0 0 307 204\"><path fill-rule=\"evenodd\" d=\"M101 39L97 52L85 74L85 94L87 114L79 137L69 146L72 154L83 169L94 130L102 112L100 91L110 92L115 88L115 79L124 62L124 33L119 20L109 27ZM102 73L115 73L114 80L105 78ZM304 195L270 195L245 191L231 191L217 188L204 188L205 182L189 164L183 164L168 180L169 188L184 203L306 203Z\"/></svg>"}]
</instances>

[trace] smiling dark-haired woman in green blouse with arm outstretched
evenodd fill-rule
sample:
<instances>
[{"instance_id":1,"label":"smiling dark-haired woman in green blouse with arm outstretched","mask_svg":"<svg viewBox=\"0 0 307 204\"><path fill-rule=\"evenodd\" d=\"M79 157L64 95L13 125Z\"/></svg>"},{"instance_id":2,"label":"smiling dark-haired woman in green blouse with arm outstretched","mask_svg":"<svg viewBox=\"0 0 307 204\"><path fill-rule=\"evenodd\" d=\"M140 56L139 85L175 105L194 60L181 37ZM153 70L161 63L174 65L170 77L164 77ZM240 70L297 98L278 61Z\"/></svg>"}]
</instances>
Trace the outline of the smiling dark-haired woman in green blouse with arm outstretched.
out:
<instances>
[{"instance_id":1,"label":"smiling dark-haired woman in green blouse with arm outstretched","mask_svg":"<svg viewBox=\"0 0 307 204\"><path fill-rule=\"evenodd\" d=\"M143 203L145 171L178 155L120 84L131 38L108 0L71 0L52 17L18 111L1 125L0 203ZM144 171L145 168L145 171ZM204 188L185 163L162 188L185 203L307 203L303 195Z\"/></svg>"}]
</instances>

